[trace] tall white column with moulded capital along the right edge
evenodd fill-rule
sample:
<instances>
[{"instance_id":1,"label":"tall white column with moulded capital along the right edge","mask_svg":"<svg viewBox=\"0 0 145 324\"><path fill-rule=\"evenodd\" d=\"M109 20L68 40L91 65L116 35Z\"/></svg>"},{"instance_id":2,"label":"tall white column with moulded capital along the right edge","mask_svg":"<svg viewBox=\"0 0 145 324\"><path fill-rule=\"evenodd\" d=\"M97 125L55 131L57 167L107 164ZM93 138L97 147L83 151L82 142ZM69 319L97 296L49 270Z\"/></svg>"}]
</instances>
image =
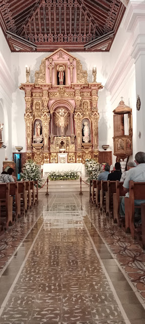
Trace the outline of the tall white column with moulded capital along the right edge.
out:
<instances>
[{"instance_id":1,"label":"tall white column with moulded capital along the right edge","mask_svg":"<svg viewBox=\"0 0 145 324\"><path fill-rule=\"evenodd\" d=\"M140 110L136 110L136 149L145 152L145 3L130 1L126 17L126 31L132 32L131 56L135 64L136 101L141 101ZM141 137L139 137L139 133Z\"/></svg>"}]
</instances>

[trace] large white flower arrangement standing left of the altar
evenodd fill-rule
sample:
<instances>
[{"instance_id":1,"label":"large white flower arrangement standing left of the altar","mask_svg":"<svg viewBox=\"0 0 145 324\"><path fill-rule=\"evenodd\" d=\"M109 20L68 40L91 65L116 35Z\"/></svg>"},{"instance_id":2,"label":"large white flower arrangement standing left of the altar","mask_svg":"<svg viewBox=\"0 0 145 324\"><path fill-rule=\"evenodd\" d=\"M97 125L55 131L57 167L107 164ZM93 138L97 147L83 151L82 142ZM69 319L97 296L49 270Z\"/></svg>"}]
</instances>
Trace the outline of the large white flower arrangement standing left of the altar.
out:
<instances>
[{"instance_id":1,"label":"large white flower arrangement standing left of the altar","mask_svg":"<svg viewBox=\"0 0 145 324\"><path fill-rule=\"evenodd\" d=\"M38 186L41 184L41 175L38 165L33 160L28 160L23 166L23 173L20 174L21 179L28 180L38 180Z\"/></svg>"}]
</instances>

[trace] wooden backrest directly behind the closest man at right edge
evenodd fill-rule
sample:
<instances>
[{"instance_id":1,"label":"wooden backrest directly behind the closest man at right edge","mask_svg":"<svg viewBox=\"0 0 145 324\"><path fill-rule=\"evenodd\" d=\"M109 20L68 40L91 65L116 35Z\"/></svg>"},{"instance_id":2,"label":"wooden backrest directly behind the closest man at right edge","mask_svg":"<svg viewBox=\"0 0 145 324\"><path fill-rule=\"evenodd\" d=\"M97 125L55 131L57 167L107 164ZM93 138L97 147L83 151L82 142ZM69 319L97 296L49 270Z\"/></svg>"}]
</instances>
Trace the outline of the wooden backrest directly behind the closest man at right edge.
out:
<instances>
[{"instance_id":1,"label":"wooden backrest directly behind the closest man at right edge","mask_svg":"<svg viewBox=\"0 0 145 324\"><path fill-rule=\"evenodd\" d=\"M145 200L145 182L129 181L129 197L134 200Z\"/></svg>"}]
</instances>

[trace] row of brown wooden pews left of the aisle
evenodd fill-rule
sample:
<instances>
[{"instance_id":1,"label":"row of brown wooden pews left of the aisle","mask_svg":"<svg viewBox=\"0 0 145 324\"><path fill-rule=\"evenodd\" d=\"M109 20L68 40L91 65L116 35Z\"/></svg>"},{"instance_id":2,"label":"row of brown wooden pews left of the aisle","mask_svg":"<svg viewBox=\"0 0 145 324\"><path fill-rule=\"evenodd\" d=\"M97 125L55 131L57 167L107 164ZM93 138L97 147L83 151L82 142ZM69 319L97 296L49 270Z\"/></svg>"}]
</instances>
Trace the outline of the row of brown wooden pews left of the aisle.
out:
<instances>
[{"instance_id":1,"label":"row of brown wooden pews left of the aisle","mask_svg":"<svg viewBox=\"0 0 145 324\"><path fill-rule=\"evenodd\" d=\"M38 181L0 183L0 234L38 203Z\"/></svg>"}]
</instances>

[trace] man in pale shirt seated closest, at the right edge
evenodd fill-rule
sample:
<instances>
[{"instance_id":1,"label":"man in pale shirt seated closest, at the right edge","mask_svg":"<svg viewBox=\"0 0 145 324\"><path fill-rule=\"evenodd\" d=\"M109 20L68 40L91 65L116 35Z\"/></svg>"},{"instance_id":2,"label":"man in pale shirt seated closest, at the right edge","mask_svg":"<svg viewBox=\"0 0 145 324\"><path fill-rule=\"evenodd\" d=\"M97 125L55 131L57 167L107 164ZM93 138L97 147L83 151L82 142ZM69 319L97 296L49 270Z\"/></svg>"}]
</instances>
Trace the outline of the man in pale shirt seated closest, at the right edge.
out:
<instances>
[{"instance_id":1,"label":"man in pale shirt seated closest, at the right edge","mask_svg":"<svg viewBox=\"0 0 145 324\"><path fill-rule=\"evenodd\" d=\"M138 152L135 154L135 163L136 168L131 168L127 172L127 176L124 180L123 187L126 193L125 197L129 197L129 180L133 180L134 182L145 182L145 153ZM134 205L139 206L142 203L145 203L145 200L134 200ZM124 205L124 197L121 200L120 204L120 214L125 215L125 205Z\"/></svg>"}]
</instances>

